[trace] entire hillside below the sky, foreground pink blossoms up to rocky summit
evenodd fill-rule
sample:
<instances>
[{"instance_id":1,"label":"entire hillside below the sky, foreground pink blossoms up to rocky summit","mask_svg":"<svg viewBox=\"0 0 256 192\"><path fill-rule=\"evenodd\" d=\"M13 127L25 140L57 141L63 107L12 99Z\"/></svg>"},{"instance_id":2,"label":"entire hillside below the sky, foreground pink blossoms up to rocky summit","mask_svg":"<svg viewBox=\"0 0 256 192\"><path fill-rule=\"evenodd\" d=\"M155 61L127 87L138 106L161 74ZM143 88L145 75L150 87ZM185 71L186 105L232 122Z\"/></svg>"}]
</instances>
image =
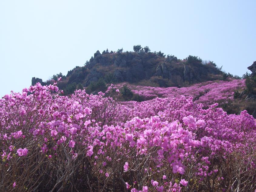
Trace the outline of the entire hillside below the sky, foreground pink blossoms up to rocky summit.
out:
<instances>
[{"instance_id":1,"label":"entire hillside below the sky, foreground pink blossoms up to rocky summit","mask_svg":"<svg viewBox=\"0 0 256 192\"><path fill-rule=\"evenodd\" d=\"M235 79L193 56L181 61L131 53L137 59L153 55L154 65L146 68L142 59L140 65L129 64L133 59L124 60L127 55L109 54L106 58L115 58L114 64L102 65L95 60L104 56L96 53L86 66L41 82L53 83L49 86L36 83L0 99L0 188L254 191L256 120L242 110L255 109L256 62L249 67L252 74ZM125 67L118 58L126 61ZM144 71L126 79L134 68ZM183 73L170 75L174 70ZM122 71L120 79L116 71ZM168 87L173 76L179 77L178 86ZM115 85L106 88L111 81ZM139 85L143 83L156 86ZM63 95L57 87L71 91L72 84L81 89ZM88 94L93 88L106 90Z\"/></svg>"}]
</instances>

